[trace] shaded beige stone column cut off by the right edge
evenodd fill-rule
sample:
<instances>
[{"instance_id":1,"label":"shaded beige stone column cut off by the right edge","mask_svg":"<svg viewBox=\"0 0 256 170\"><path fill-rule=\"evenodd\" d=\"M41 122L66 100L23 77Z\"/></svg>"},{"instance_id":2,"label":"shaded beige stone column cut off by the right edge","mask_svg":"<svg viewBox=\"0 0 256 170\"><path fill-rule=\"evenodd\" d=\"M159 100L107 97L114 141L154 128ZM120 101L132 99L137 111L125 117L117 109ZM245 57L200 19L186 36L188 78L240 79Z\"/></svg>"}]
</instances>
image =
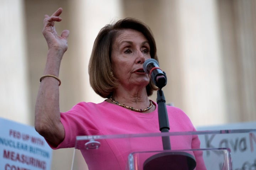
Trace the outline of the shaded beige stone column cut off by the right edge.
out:
<instances>
[{"instance_id":1,"label":"shaded beige stone column cut off by the right edge","mask_svg":"<svg viewBox=\"0 0 256 170\"><path fill-rule=\"evenodd\" d=\"M236 1L238 11L238 39L240 94L242 113L240 121L256 120L256 1Z\"/></svg>"}]
</instances>

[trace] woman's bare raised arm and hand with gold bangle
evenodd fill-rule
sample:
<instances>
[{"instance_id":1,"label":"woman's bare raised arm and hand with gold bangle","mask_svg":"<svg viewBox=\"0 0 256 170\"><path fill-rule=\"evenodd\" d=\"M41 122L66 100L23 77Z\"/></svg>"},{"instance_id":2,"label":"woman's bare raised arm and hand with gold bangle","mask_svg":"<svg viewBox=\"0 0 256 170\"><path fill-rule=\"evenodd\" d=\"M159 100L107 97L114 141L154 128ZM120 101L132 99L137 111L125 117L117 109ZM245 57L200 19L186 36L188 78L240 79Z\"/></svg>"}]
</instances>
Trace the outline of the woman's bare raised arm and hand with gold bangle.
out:
<instances>
[{"instance_id":1,"label":"woman's bare raised arm and hand with gold bangle","mask_svg":"<svg viewBox=\"0 0 256 170\"><path fill-rule=\"evenodd\" d=\"M43 35L48 44L46 67L43 75L59 77L60 62L64 52L68 49L68 30L63 30L59 36L54 23L62 21L59 8L52 16L45 15ZM64 139L65 132L60 122L59 109L59 81L54 77L44 77L39 86L35 107L35 129L53 146L57 146Z\"/></svg>"}]
</instances>

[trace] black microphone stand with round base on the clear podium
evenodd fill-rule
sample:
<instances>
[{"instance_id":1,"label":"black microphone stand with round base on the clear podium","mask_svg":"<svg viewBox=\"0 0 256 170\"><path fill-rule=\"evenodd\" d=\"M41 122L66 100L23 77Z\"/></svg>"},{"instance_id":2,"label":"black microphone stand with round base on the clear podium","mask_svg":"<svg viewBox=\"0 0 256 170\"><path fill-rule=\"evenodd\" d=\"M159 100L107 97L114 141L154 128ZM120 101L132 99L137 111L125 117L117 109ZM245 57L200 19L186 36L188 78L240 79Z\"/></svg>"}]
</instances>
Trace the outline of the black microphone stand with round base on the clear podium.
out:
<instances>
[{"instance_id":1,"label":"black microphone stand with round base on the clear podium","mask_svg":"<svg viewBox=\"0 0 256 170\"><path fill-rule=\"evenodd\" d=\"M169 132L169 120L165 105L164 92L162 87L166 85L166 74L155 77L154 74L151 75L154 84L158 86L159 90L157 92L157 104L158 104L158 120L159 120L159 130L161 132ZM156 81L156 79L158 81ZM193 170L196 167L196 161L194 157L186 152L171 152L171 142L170 136L162 136L162 145L164 150L169 150L170 152L161 152L155 154L143 163L143 170Z\"/></svg>"}]
</instances>

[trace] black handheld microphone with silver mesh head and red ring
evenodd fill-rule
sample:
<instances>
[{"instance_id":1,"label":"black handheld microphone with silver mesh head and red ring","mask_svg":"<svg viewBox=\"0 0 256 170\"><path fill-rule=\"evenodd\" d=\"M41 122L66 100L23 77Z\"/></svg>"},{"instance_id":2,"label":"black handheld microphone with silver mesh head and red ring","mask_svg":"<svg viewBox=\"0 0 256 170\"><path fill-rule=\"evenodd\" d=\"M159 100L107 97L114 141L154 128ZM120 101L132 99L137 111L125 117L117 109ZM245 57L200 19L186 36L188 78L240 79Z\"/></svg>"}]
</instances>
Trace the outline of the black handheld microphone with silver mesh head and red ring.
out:
<instances>
[{"instance_id":1,"label":"black handheld microphone with silver mesh head and red ring","mask_svg":"<svg viewBox=\"0 0 256 170\"><path fill-rule=\"evenodd\" d=\"M153 83L160 89L167 83L165 72L159 68L158 61L153 58L146 60L143 63L143 70L149 74Z\"/></svg>"}]
</instances>

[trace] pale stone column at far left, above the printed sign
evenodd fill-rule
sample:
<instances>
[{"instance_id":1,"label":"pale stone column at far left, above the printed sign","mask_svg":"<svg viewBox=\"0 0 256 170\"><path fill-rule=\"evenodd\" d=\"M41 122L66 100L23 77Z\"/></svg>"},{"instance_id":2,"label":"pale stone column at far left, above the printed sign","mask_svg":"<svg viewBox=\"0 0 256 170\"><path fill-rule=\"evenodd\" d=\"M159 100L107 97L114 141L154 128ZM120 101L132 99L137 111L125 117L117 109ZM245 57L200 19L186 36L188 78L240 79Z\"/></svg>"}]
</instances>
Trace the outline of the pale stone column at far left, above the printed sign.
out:
<instances>
[{"instance_id":1,"label":"pale stone column at far left, above the printed sign","mask_svg":"<svg viewBox=\"0 0 256 170\"><path fill-rule=\"evenodd\" d=\"M0 2L0 117L31 124L22 2Z\"/></svg>"}]
</instances>

